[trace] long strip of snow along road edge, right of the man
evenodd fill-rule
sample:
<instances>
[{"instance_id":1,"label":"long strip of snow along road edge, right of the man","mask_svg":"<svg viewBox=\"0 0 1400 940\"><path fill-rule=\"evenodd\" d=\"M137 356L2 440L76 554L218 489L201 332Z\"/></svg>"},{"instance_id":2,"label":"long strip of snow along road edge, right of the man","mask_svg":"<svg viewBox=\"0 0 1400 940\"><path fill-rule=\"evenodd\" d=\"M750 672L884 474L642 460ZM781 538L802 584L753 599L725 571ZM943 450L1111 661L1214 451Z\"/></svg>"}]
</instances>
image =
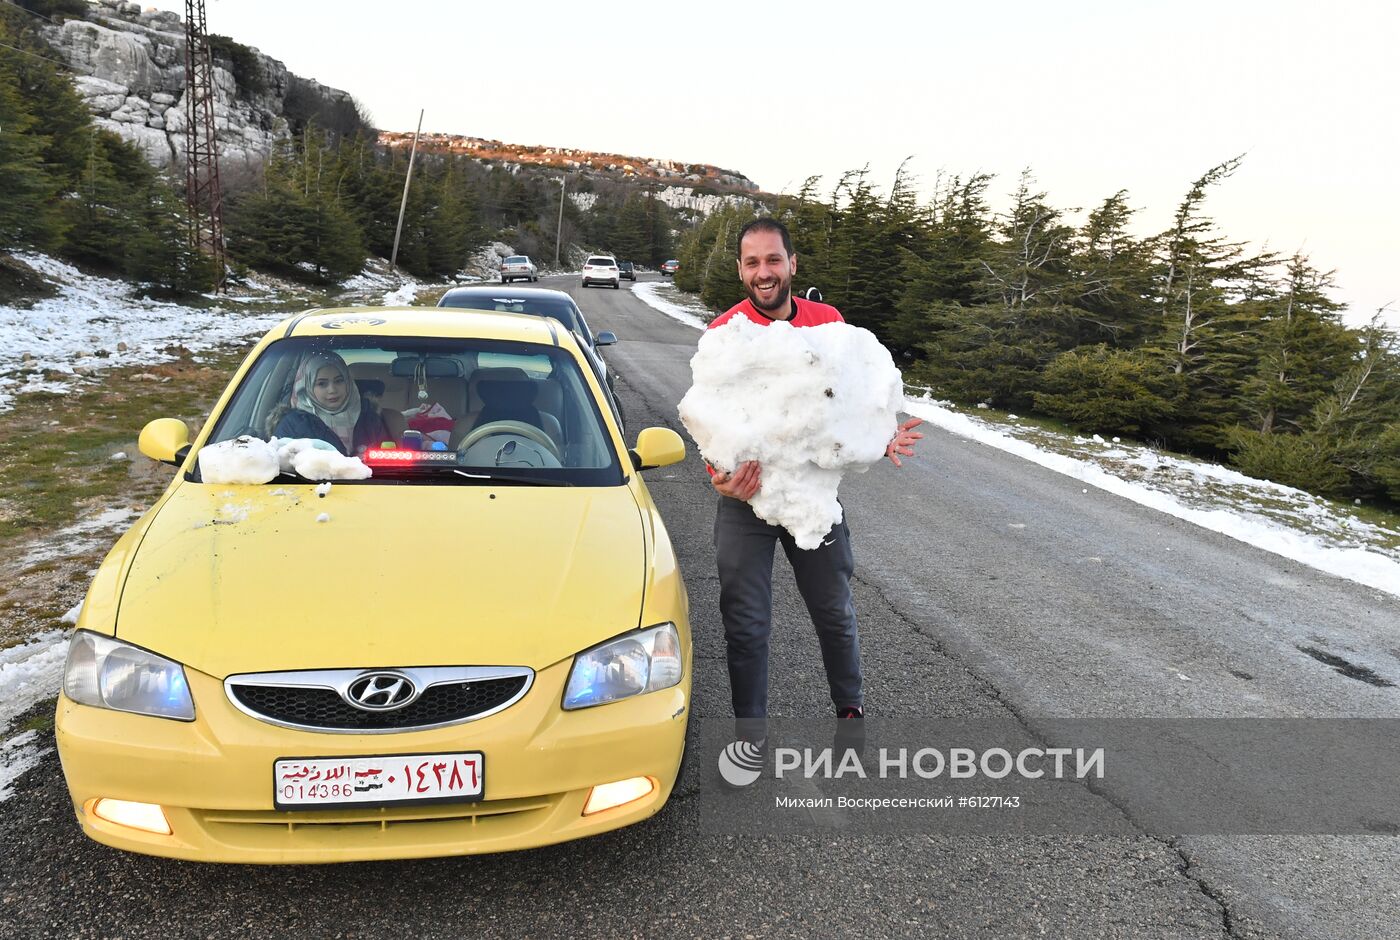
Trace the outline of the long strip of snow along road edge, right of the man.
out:
<instances>
[{"instance_id":1,"label":"long strip of snow along road edge, right of the man","mask_svg":"<svg viewBox=\"0 0 1400 940\"><path fill-rule=\"evenodd\" d=\"M1057 454L945 405L946 402L928 396L911 398L906 403L910 415L959 437L1015 454L1212 532L1400 597L1400 551L1368 544L1366 530L1373 530L1372 534L1379 530L1358 520L1343 518L1334 507L1309 493L1257 481L1204 461L1169 457L1145 447L1091 443L1092 438L1081 437L1075 441L1102 452L1074 457ZM1021 427L1016 430L1021 431ZM1222 488L1219 483L1229 486Z\"/></svg>"}]
</instances>

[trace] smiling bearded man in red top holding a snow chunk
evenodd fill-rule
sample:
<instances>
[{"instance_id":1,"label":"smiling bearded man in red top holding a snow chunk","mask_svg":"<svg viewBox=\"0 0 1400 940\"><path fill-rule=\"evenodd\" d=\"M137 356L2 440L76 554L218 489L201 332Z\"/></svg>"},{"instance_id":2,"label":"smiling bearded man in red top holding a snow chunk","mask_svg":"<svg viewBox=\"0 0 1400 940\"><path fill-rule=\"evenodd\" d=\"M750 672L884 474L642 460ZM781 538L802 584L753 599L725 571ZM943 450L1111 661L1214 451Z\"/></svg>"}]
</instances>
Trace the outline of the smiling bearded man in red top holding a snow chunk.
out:
<instances>
[{"instance_id":1,"label":"smiling bearded man in red top holding a snow chunk","mask_svg":"<svg viewBox=\"0 0 1400 940\"><path fill-rule=\"evenodd\" d=\"M710 328L722 326L735 317L748 317L764 326L776 321L788 321L794 326L844 322L834 307L794 297L795 273L797 254L787 227L774 219L748 223L739 230L739 280L748 298L717 317ZM914 454L914 441L923 437L913 430L918 424L917 417L904 422L890 440L885 455L896 466L902 455ZM851 598L854 559L850 530L843 520L818 548L798 548L787 530L753 514L749 500L762 486L757 461L748 461L732 474L711 469L710 478L720 495L714 539L729 692L741 737L755 741L764 735L769 707L773 546L777 542L783 544L816 628L837 717L860 720L865 714L861 644Z\"/></svg>"}]
</instances>

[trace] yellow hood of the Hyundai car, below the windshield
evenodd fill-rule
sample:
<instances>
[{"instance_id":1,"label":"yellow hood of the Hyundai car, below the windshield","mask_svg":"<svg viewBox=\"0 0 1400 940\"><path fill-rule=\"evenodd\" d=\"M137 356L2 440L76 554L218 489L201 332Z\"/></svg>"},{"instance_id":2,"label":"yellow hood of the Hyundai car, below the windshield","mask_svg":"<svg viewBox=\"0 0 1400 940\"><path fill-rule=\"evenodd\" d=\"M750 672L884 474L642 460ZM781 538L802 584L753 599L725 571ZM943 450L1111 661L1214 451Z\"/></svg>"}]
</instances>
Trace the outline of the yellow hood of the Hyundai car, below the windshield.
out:
<instances>
[{"instance_id":1,"label":"yellow hood of the Hyundai car, below the windshield","mask_svg":"<svg viewBox=\"0 0 1400 940\"><path fill-rule=\"evenodd\" d=\"M627 486L181 483L116 635L218 678L538 670L638 626L644 579Z\"/></svg>"}]
</instances>

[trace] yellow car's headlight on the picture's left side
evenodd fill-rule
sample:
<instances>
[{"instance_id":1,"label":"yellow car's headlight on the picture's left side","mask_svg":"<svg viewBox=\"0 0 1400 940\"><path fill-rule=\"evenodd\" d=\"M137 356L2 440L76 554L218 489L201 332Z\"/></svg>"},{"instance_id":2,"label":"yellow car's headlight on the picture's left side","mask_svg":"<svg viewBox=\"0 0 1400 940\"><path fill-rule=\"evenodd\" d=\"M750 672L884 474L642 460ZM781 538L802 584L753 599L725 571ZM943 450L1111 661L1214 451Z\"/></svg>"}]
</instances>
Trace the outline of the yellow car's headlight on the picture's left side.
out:
<instances>
[{"instance_id":1,"label":"yellow car's headlight on the picture's left side","mask_svg":"<svg viewBox=\"0 0 1400 940\"><path fill-rule=\"evenodd\" d=\"M69 642L63 692L80 705L195 720L185 667L139 646L78 630Z\"/></svg>"}]
</instances>

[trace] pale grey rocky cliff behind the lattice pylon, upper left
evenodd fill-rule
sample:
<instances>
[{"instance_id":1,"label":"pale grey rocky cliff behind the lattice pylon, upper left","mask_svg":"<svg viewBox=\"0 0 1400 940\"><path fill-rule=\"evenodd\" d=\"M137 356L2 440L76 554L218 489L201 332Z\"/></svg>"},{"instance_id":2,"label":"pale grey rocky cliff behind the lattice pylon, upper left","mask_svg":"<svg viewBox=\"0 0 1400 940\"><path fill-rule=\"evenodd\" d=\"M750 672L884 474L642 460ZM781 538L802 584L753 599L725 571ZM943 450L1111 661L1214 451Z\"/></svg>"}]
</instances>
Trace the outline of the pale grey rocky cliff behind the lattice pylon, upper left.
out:
<instances>
[{"instance_id":1,"label":"pale grey rocky cliff behind the lattice pylon, upper left","mask_svg":"<svg viewBox=\"0 0 1400 940\"><path fill-rule=\"evenodd\" d=\"M87 18L45 27L42 34L78 73L77 91L99 127L136 143L157 165L183 163L185 24L178 14L99 0ZM221 165L258 164L287 136L284 108L294 83L328 102L351 102L346 91L298 78L256 49L245 52L242 81L232 60L214 53Z\"/></svg>"}]
</instances>

